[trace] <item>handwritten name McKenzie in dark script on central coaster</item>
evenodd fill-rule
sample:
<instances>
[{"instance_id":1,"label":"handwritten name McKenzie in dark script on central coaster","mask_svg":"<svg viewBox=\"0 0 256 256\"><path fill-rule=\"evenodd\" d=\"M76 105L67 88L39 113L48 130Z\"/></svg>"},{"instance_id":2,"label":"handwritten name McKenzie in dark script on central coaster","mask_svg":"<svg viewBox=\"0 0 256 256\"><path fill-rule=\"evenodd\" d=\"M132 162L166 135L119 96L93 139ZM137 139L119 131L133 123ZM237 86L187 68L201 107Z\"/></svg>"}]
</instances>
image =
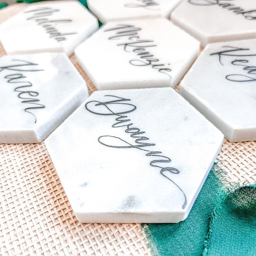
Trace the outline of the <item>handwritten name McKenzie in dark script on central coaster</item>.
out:
<instances>
[{"instance_id":1,"label":"handwritten name McKenzie in dark script on central coaster","mask_svg":"<svg viewBox=\"0 0 256 256\"><path fill-rule=\"evenodd\" d=\"M134 53L137 58L131 59L129 63L133 66L148 66L152 69L165 74L171 78L169 64L163 64L151 52L151 47L157 47L152 40L141 39L139 31L141 28L133 25L117 24L116 26L106 29L104 32L112 33L108 40L118 40L116 46L122 47L125 52Z\"/></svg>"}]
</instances>

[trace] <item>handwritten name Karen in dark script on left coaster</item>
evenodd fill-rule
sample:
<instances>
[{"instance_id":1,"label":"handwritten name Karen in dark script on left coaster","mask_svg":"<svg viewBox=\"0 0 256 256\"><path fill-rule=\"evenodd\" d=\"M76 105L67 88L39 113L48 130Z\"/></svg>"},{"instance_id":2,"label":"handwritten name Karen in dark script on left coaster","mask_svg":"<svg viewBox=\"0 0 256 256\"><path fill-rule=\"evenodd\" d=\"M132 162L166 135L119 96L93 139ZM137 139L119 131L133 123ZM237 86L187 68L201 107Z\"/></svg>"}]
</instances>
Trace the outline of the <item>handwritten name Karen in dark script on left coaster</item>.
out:
<instances>
[{"instance_id":1,"label":"handwritten name Karen in dark script on left coaster","mask_svg":"<svg viewBox=\"0 0 256 256\"><path fill-rule=\"evenodd\" d=\"M39 93L32 89L33 84L28 81L25 73L44 71L36 69L36 66L38 64L24 60L12 60L9 65L0 66L0 76L2 72L5 73L5 76L0 77L0 79L6 79L7 84L13 86L14 92L17 93L17 98L21 99L21 103L24 105L24 111L34 117L35 123L37 122L37 118L33 111L35 109L45 108L45 105L39 103Z\"/></svg>"}]
</instances>

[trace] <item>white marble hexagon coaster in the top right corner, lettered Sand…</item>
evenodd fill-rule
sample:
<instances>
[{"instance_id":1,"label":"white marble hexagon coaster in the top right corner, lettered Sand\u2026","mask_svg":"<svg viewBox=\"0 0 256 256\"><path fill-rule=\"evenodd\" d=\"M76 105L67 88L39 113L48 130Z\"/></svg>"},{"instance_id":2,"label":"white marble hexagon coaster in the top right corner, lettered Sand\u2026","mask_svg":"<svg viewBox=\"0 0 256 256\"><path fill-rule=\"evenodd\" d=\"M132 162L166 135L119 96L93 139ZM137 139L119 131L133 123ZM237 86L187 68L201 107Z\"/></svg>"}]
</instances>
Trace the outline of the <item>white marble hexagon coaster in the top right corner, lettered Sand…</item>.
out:
<instances>
[{"instance_id":1,"label":"white marble hexagon coaster in the top right corner, lettered Sand\u2026","mask_svg":"<svg viewBox=\"0 0 256 256\"><path fill-rule=\"evenodd\" d=\"M171 13L173 23L208 43L255 38L255 0L184 0Z\"/></svg>"}]
</instances>

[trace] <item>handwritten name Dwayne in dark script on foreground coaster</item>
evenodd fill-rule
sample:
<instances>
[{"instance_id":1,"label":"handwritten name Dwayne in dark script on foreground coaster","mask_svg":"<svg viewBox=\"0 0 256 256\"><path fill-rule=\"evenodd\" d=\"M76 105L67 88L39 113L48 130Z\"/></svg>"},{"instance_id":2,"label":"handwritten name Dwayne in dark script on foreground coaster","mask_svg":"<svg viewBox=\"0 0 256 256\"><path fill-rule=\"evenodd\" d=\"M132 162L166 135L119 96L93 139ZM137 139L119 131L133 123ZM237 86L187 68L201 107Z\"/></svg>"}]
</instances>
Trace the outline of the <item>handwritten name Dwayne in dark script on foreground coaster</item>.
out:
<instances>
[{"instance_id":1,"label":"handwritten name Dwayne in dark script on foreground coaster","mask_svg":"<svg viewBox=\"0 0 256 256\"><path fill-rule=\"evenodd\" d=\"M150 161L149 165L160 169L160 174L172 182L183 194L184 202L182 208L184 209L187 204L185 193L178 184L166 176L168 172L176 175L179 174L180 171L174 167L168 166L172 161L169 157L164 156L161 151L154 151L154 149L152 150L152 147L154 148L156 144L149 143L149 138L144 136L145 131L141 131L140 128L135 127L131 122L131 119L128 118L127 114L135 111L137 107L129 103L131 101L130 99L124 99L122 97L113 95L105 95L105 97L107 97L105 102L87 102L85 104L86 110L96 115L113 116L115 121L111 127L122 129L126 134L130 135L134 142L131 144L119 137L110 135L100 136L98 138L98 142L111 148L135 148L144 151L145 156L153 157L153 160ZM122 110L114 111L113 109L116 109L116 107Z\"/></svg>"}]
</instances>

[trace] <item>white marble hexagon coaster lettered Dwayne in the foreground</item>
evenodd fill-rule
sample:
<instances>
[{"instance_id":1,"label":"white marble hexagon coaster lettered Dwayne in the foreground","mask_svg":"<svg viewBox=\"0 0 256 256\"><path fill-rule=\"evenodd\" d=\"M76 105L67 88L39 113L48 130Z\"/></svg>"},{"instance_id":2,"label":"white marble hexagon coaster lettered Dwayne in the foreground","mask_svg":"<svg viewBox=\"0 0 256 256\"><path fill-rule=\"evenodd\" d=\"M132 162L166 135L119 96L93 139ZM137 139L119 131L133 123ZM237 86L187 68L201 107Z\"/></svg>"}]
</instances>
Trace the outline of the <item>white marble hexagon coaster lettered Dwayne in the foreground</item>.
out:
<instances>
[{"instance_id":1,"label":"white marble hexagon coaster lettered Dwayne in the foreground","mask_svg":"<svg viewBox=\"0 0 256 256\"><path fill-rule=\"evenodd\" d=\"M46 140L78 220L184 220L223 135L172 88L97 91Z\"/></svg>"}]
</instances>

